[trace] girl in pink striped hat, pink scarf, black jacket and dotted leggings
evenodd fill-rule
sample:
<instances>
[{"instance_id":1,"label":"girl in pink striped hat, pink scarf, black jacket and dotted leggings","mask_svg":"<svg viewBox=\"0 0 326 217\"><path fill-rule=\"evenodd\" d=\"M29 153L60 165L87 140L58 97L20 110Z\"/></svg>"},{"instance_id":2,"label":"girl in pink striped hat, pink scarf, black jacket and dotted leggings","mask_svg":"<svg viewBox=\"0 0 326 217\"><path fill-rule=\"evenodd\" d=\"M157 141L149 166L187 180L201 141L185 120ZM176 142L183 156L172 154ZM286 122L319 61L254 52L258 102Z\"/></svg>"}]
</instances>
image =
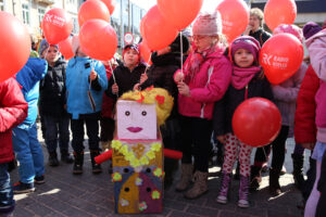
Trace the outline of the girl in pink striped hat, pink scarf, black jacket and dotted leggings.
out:
<instances>
[{"instance_id":1,"label":"girl in pink striped hat, pink scarf, black jacket and dotted leggings","mask_svg":"<svg viewBox=\"0 0 326 217\"><path fill-rule=\"evenodd\" d=\"M239 207L249 207L250 154L252 146L242 143L234 135L231 119L238 105L249 98L273 100L272 88L259 66L260 43L251 36L238 37L230 44L230 59L234 63L231 85L222 102L215 103L214 132L224 143L224 164L221 190L216 201L227 203L231 171L237 157L240 163Z\"/></svg>"}]
</instances>

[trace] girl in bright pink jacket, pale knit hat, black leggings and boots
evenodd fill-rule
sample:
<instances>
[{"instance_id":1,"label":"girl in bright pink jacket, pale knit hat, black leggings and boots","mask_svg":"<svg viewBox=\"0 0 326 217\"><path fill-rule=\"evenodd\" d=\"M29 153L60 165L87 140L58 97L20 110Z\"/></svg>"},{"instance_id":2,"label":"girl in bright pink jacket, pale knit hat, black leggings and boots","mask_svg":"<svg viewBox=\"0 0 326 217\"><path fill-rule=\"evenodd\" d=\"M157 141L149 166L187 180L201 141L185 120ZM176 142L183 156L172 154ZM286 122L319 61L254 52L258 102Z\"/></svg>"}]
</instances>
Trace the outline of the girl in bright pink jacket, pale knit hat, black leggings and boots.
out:
<instances>
[{"instance_id":1,"label":"girl in bright pink jacket, pale knit hat, black leggings and boots","mask_svg":"<svg viewBox=\"0 0 326 217\"><path fill-rule=\"evenodd\" d=\"M231 75L231 64L224 55L220 13L199 15L192 33L195 49L185 62L184 73L177 71L174 76L179 91L183 151L181 179L176 191L188 189L195 167L195 184L184 194L186 199L208 192L214 102L224 97Z\"/></svg>"}]
</instances>

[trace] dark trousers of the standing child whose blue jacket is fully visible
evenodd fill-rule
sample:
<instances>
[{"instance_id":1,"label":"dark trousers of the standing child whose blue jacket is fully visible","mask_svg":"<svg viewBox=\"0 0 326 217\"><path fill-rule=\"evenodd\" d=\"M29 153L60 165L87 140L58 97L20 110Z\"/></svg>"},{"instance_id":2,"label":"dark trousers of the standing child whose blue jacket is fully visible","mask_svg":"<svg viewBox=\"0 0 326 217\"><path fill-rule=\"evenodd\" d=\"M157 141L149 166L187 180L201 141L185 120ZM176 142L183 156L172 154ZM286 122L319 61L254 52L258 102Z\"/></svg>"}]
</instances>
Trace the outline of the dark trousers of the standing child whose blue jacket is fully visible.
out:
<instances>
[{"instance_id":1,"label":"dark trousers of the standing child whose blue jacket is fully visible","mask_svg":"<svg viewBox=\"0 0 326 217\"><path fill-rule=\"evenodd\" d=\"M84 151L84 124L86 124L86 132L88 137L89 150L99 150L99 119L100 114L79 115L78 119L71 119L71 128L73 132L72 146L75 152Z\"/></svg>"}]
</instances>

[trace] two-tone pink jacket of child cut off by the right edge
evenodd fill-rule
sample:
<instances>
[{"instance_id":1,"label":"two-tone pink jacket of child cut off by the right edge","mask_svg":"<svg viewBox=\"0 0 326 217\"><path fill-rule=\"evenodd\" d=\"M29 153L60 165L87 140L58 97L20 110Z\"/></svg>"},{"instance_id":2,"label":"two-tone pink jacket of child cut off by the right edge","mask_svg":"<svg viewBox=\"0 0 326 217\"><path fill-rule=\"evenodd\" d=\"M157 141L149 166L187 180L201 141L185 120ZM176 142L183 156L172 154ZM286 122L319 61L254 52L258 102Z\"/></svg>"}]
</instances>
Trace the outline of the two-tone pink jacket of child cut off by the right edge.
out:
<instances>
[{"instance_id":1,"label":"two-tone pink jacket of child cut off by the right edge","mask_svg":"<svg viewBox=\"0 0 326 217\"><path fill-rule=\"evenodd\" d=\"M315 95L317 141L326 143L326 29L311 37L305 43L312 67L321 78Z\"/></svg>"}]
</instances>

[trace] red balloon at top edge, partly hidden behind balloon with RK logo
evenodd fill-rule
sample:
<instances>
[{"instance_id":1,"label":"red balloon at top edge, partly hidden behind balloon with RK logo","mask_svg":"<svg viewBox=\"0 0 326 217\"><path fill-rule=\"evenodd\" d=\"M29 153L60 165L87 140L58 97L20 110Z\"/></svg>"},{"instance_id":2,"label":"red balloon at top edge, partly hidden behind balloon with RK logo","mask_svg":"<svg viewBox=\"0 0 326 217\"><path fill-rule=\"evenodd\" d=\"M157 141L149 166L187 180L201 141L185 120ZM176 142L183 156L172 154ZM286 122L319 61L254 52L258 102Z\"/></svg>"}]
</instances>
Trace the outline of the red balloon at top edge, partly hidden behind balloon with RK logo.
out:
<instances>
[{"instance_id":1,"label":"red balloon at top edge, partly hidden behind balloon with RK logo","mask_svg":"<svg viewBox=\"0 0 326 217\"><path fill-rule=\"evenodd\" d=\"M110 23L109 9L100 0L85 1L78 11L78 23L80 27L85 22L92 18L99 18Z\"/></svg>"}]
</instances>

